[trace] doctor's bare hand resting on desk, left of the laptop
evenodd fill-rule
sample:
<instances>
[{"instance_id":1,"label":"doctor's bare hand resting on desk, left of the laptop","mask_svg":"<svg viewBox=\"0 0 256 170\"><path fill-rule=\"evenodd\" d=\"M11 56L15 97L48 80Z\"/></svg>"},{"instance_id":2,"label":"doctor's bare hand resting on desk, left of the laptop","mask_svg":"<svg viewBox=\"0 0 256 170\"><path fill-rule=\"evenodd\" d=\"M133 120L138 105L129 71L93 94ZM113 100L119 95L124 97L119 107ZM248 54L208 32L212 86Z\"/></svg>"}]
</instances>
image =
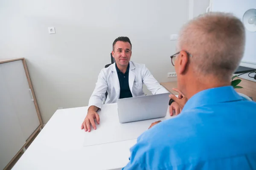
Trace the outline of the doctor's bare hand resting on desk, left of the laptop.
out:
<instances>
[{"instance_id":1,"label":"doctor's bare hand resting on desk, left of the laptop","mask_svg":"<svg viewBox=\"0 0 256 170\"><path fill-rule=\"evenodd\" d=\"M84 131L86 132L90 132L90 125L92 125L93 129L96 130L94 119L96 119L96 122L99 125L99 114L96 113L98 109L99 108L97 108L96 106L90 106L90 108L88 108L88 113L84 119L84 122L81 125L81 129L84 129Z\"/></svg>"}]
</instances>

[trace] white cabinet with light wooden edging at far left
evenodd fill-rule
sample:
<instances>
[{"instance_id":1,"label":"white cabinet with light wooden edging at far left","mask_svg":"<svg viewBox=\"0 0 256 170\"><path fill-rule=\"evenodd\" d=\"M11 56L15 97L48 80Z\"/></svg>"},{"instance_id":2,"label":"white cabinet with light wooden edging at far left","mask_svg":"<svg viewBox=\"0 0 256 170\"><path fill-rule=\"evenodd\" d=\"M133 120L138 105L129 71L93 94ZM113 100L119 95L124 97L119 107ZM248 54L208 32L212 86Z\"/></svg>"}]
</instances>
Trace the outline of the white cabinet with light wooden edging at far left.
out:
<instances>
[{"instance_id":1,"label":"white cabinet with light wooden edging at far left","mask_svg":"<svg viewBox=\"0 0 256 170\"><path fill-rule=\"evenodd\" d=\"M25 59L0 61L0 170L42 125Z\"/></svg>"}]
</instances>

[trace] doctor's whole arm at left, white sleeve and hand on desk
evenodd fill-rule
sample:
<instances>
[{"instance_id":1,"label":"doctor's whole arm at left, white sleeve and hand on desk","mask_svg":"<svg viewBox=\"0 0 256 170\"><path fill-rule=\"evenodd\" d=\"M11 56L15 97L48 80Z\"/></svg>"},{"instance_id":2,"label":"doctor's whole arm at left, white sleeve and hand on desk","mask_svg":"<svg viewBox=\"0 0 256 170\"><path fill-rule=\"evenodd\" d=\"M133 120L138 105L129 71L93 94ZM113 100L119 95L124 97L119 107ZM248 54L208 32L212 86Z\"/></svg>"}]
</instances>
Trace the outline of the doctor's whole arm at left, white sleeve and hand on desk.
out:
<instances>
[{"instance_id":1,"label":"doctor's whole arm at left, white sleeve and hand on desk","mask_svg":"<svg viewBox=\"0 0 256 170\"><path fill-rule=\"evenodd\" d=\"M87 116L84 119L84 122L81 125L81 129L90 132L90 125L92 125L93 129L96 130L96 124L94 119L96 119L97 124L99 124L99 114L96 112L100 108L102 108L102 102L105 99L105 93L107 91L107 80L106 74L102 70L99 74L98 80L96 82L96 87L93 91L89 99L89 108L87 112Z\"/></svg>"}]
</instances>

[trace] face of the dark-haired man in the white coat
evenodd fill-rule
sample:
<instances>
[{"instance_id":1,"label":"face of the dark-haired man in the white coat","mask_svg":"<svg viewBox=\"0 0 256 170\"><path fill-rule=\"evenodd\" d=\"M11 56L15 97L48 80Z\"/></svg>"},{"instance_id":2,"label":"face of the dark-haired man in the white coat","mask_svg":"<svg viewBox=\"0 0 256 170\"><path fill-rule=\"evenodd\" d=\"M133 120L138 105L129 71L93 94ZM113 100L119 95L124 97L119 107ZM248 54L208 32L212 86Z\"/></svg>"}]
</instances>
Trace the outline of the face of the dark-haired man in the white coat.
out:
<instances>
[{"instance_id":1,"label":"face of the dark-haired man in the white coat","mask_svg":"<svg viewBox=\"0 0 256 170\"><path fill-rule=\"evenodd\" d=\"M126 66L131 59L131 45L129 42L117 41L112 56L117 65Z\"/></svg>"}]
</instances>

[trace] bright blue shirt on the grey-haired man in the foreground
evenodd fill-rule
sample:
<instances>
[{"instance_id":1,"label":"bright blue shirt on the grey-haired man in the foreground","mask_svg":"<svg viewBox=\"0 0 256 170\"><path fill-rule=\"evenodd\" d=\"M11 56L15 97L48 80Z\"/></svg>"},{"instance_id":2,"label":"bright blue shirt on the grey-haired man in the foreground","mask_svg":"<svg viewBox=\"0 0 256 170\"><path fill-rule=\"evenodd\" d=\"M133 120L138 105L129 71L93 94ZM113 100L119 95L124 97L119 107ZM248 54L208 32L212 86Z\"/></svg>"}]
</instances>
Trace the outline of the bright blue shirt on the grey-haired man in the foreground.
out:
<instances>
[{"instance_id":1,"label":"bright blue shirt on the grey-haired man in the foreground","mask_svg":"<svg viewBox=\"0 0 256 170\"><path fill-rule=\"evenodd\" d=\"M256 102L232 86L195 94L137 139L123 169L256 170Z\"/></svg>"}]
</instances>

